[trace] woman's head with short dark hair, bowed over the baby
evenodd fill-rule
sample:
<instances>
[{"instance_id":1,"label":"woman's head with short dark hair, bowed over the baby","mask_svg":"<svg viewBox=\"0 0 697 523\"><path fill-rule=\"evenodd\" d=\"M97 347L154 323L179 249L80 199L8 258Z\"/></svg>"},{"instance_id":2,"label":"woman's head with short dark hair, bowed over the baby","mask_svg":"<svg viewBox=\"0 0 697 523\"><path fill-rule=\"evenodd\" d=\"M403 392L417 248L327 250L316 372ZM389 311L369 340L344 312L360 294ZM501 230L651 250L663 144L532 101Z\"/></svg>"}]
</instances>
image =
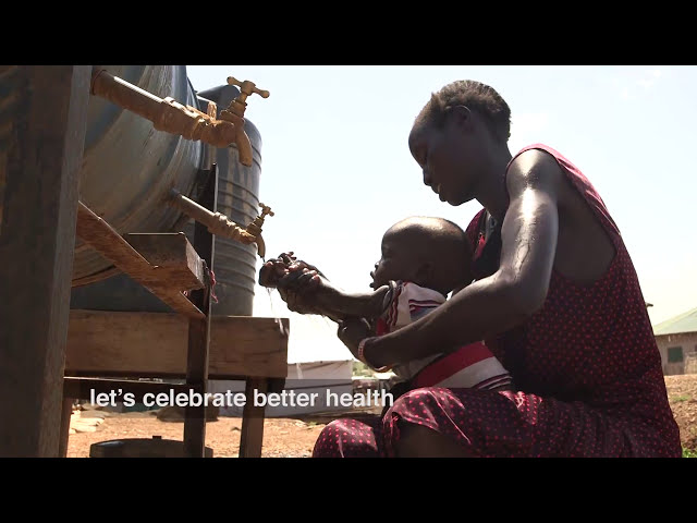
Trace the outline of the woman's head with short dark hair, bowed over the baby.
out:
<instances>
[{"instance_id":1,"label":"woman's head with short dark hair, bowed over the baby","mask_svg":"<svg viewBox=\"0 0 697 523\"><path fill-rule=\"evenodd\" d=\"M488 85L466 80L445 85L421 109L409 133L409 150L424 183L442 202L476 197L492 155L508 151L511 110Z\"/></svg>"}]
</instances>

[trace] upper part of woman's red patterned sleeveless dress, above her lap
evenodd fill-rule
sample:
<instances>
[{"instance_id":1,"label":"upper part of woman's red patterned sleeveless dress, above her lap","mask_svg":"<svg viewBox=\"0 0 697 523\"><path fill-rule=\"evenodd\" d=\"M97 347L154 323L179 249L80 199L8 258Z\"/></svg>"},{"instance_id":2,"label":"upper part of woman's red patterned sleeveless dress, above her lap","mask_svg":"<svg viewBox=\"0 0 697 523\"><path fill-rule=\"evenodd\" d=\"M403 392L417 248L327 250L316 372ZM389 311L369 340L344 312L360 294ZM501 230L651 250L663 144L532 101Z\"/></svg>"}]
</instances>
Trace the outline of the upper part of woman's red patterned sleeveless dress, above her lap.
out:
<instances>
[{"instance_id":1,"label":"upper part of woman's red patterned sleeveless dress, above her lap","mask_svg":"<svg viewBox=\"0 0 697 523\"><path fill-rule=\"evenodd\" d=\"M636 433L636 438L628 439L651 447L644 451L680 455L680 431L668 403L660 353L620 230L588 179L557 150L530 145L511 162L529 149L543 150L557 159L612 239L616 255L592 284L576 283L552 270L542 308L525 324L486 340L487 345L512 374L518 390L597 409L626 421L627 434ZM482 209L467 228L475 246L477 279L498 267L496 254L494 266L477 269L482 253L491 251L486 248L491 239L481 227L485 216Z\"/></svg>"}]
</instances>

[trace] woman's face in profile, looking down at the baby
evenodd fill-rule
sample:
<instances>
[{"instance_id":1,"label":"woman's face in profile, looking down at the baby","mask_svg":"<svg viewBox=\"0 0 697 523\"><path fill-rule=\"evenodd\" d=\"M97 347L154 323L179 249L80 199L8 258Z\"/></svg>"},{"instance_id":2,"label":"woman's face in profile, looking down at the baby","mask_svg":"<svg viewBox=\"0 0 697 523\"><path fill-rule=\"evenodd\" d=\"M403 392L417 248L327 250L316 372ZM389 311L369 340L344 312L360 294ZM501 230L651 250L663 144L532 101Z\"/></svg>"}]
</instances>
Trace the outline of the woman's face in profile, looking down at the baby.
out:
<instances>
[{"instance_id":1,"label":"woman's face in profile, looking down at the baby","mask_svg":"<svg viewBox=\"0 0 697 523\"><path fill-rule=\"evenodd\" d=\"M442 127L426 120L412 129L412 156L424 171L424 183L441 202L456 206L475 197L477 169L472 145L473 136L454 118L447 118Z\"/></svg>"}]
</instances>

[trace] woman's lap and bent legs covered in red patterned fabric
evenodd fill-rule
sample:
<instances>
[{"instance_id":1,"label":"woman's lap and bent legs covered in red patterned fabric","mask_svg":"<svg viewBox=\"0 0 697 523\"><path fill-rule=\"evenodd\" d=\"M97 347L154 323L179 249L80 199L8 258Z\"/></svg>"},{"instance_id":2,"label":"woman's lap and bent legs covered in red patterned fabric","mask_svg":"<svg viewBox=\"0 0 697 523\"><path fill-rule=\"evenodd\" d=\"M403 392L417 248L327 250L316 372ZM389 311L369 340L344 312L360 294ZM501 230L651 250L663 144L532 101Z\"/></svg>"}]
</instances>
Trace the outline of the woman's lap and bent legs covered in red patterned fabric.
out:
<instances>
[{"instance_id":1,"label":"woman's lap and bent legs covered in red patterned fabric","mask_svg":"<svg viewBox=\"0 0 697 523\"><path fill-rule=\"evenodd\" d=\"M625 455L625 426L582 403L525 392L423 388L407 392L380 419L327 425L315 457L393 457L401 431L420 425L479 457Z\"/></svg>"}]
</instances>

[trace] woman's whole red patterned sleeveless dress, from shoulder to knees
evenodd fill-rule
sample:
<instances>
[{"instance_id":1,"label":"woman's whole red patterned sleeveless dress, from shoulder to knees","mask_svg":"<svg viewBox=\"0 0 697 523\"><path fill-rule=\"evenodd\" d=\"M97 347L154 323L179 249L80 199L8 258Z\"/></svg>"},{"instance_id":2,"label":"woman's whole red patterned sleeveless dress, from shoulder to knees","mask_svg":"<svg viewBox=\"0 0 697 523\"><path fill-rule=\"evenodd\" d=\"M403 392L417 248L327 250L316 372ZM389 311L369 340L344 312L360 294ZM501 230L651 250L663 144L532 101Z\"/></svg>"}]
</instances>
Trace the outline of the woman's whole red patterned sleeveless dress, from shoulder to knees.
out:
<instances>
[{"instance_id":1,"label":"woman's whole red patterned sleeveless dress, from shoulder to knees","mask_svg":"<svg viewBox=\"0 0 697 523\"><path fill-rule=\"evenodd\" d=\"M660 354L617 227L575 166L541 144L518 155L528 149L557 159L612 239L616 255L604 276L582 285L553 270L542 308L486 340L518 392L416 389L381 419L330 423L315 457L392 457L400 429L409 423L449 436L479 457L682 455ZM477 247L475 267L492 251L487 248L492 238L479 232L484 216L482 209L467 229ZM490 264L479 266L478 278L491 273Z\"/></svg>"}]
</instances>

